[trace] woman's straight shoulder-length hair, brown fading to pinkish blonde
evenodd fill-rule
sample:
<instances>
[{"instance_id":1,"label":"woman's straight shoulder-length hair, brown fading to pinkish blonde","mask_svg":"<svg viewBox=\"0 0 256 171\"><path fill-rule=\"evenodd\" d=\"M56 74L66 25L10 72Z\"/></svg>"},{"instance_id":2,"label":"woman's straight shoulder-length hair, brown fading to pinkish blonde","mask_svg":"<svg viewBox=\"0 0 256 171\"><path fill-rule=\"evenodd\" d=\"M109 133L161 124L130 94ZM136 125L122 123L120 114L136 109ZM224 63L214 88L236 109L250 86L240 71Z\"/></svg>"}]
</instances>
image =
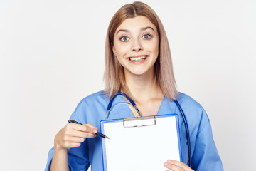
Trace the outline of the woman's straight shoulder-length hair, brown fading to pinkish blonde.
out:
<instances>
[{"instance_id":1,"label":"woman's straight shoulder-length hair, brown fading to pinkish blonde","mask_svg":"<svg viewBox=\"0 0 256 171\"><path fill-rule=\"evenodd\" d=\"M171 51L164 31L164 26L161 24L159 17L153 9L148 5L134 1L133 4L122 6L112 17L110 25L107 29L107 37L105 44L105 93L109 98L112 98L119 90L129 96L129 88L124 78L124 68L121 66L117 58L114 57L112 44L114 33L125 19L134 18L135 16L146 16L159 33L159 56L154 64L156 83L159 84L161 90L169 100L177 98L178 91L176 90L176 82L174 79L174 71L171 61Z\"/></svg>"}]
</instances>

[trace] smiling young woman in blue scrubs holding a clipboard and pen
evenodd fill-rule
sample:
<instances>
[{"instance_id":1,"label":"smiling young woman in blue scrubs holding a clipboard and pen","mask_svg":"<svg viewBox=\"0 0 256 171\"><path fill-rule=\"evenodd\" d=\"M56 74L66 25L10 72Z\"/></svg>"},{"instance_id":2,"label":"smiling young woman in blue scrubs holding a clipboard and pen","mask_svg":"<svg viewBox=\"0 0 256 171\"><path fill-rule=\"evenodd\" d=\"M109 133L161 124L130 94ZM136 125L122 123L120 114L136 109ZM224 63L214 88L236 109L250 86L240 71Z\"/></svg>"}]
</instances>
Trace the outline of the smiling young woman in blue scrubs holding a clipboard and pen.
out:
<instances>
[{"instance_id":1,"label":"smiling young woman in blue scrubs holding a clipboard and pen","mask_svg":"<svg viewBox=\"0 0 256 171\"><path fill-rule=\"evenodd\" d=\"M105 62L105 90L89 95L78 104L70 120L83 125L68 123L58 132L46 170L87 170L90 165L92 171L103 170L100 137L95 133L100 120L105 120L110 99L118 92L129 95L142 116L178 113L182 118L174 100L181 105L188 122L191 167L187 165L186 129L180 119L183 162L166 159L163 165L167 169L223 170L205 110L188 95L176 90L164 26L149 6L134 2L122 6L114 14L107 31ZM127 99L118 95L108 119L138 115L131 105L127 105Z\"/></svg>"}]
</instances>

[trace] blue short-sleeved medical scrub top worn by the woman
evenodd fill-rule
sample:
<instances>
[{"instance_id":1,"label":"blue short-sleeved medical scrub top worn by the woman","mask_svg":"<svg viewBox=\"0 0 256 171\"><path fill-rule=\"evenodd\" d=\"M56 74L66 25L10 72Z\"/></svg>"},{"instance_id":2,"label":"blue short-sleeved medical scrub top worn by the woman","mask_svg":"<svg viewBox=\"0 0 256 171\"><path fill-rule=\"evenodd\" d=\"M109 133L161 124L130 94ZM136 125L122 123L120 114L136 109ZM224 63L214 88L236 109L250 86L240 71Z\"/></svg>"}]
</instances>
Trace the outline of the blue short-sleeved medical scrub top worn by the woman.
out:
<instances>
[{"instance_id":1,"label":"blue short-sleeved medical scrub top worn by the woman","mask_svg":"<svg viewBox=\"0 0 256 171\"><path fill-rule=\"evenodd\" d=\"M196 171L222 171L223 165L218 155L218 151L213 141L213 134L210 127L210 120L206 111L193 98L186 94L179 93L178 103L186 115L188 129L191 138L192 168ZM70 120L77 120L85 124L91 123L100 128L100 120L105 120L107 105L110 99L103 95L103 91L94 93L82 99L70 117ZM170 101L166 96L161 103L156 115L177 113L179 116L179 126L181 133L181 149L183 162L188 164L188 145L186 140L186 129L174 101ZM122 95L118 95L112 103L110 119L132 118L134 117L127 102ZM50 170L50 163L53 159L53 148L48 154L48 162L45 170ZM168 160L168 159L166 159ZM164 162L164 161L163 161ZM164 163L163 163L164 164ZM70 170L87 170L91 165L92 171L103 170L102 165L102 145L100 137L87 138L80 147L68 149L68 165Z\"/></svg>"}]
</instances>

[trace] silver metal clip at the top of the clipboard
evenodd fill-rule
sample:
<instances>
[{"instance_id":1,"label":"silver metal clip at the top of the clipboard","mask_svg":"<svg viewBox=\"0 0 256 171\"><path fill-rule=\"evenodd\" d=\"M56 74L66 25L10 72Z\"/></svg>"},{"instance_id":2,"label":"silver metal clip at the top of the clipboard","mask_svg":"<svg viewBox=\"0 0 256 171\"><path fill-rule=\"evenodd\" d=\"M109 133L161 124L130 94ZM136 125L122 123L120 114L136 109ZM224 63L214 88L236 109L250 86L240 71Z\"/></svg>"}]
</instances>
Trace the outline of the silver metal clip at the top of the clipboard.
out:
<instances>
[{"instance_id":1,"label":"silver metal clip at the top of the clipboard","mask_svg":"<svg viewBox=\"0 0 256 171\"><path fill-rule=\"evenodd\" d=\"M144 116L138 118L124 118L123 126L124 128L131 127L143 127L143 126L152 126L156 125L156 117L155 116Z\"/></svg>"}]
</instances>

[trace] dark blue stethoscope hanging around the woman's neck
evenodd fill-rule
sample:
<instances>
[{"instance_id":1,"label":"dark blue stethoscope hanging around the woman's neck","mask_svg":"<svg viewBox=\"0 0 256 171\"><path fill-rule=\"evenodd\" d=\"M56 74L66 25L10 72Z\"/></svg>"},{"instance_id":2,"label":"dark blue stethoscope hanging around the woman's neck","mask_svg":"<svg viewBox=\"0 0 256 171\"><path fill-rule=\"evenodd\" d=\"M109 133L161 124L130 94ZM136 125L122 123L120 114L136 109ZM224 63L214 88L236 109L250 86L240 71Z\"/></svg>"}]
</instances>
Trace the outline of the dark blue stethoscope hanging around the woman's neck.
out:
<instances>
[{"instance_id":1,"label":"dark blue stethoscope hanging around the woman's neck","mask_svg":"<svg viewBox=\"0 0 256 171\"><path fill-rule=\"evenodd\" d=\"M127 98L129 100L129 103L131 103L132 107L136 110L136 112L138 113L139 117L142 117L142 115L139 113L139 110L138 108L136 107L136 104L134 103L134 101L132 100L132 98L129 98L129 96L125 93L122 93L122 92L118 92L117 94L115 94L113 96L113 98L110 99L110 103L107 105L107 113L106 113L106 120L107 118L109 117L110 115L110 109L112 107L112 103L114 101L114 98L117 97L117 95L123 95L125 98ZM185 128L186 128L186 139L188 141L188 166L191 167L191 144L190 144L190 138L189 138L189 131L188 131L188 123L187 123L187 120L186 120L186 116L181 108L181 105L178 103L177 100L174 100L174 103L176 103L177 107L178 107L178 110L180 111L181 113L181 116L183 118L183 121L184 121L184 125L185 125Z\"/></svg>"}]
</instances>

